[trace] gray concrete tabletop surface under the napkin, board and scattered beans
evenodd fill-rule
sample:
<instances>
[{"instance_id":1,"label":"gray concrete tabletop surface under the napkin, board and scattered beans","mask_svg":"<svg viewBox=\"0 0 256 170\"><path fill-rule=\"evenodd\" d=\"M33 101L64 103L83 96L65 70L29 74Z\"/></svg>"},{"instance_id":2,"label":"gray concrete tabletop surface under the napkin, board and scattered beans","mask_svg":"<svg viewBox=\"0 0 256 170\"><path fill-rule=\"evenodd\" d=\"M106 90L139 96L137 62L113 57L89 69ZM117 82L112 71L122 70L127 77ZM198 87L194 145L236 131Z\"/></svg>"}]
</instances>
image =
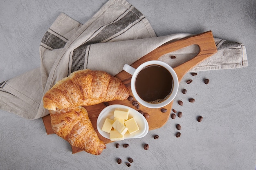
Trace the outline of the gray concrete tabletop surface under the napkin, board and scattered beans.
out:
<instances>
[{"instance_id":1,"label":"gray concrete tabletop surface under the napkin, board and scattered beans","mask_svg":"<svg viewBox=\"0 0 256 170\"><path fill-rule=\"evenodd\" d=\"M40 66L39 45L61 13L85 23L107 0L1 0L0 82ZM177 99L194 97L173 108L183 116L168 119L141 139L107 144L100 156L79 152L56 135L47 135L42 119L27 120L0 110L1 170L254 170L256 163L256 2L255 0L128 0L143 13L158 36L213 31L216 38L241 42L249 66L198 72L185 80ZM202 80L207 77L206 86ZM198 123L196 117L202 115ZM181 137L175 125L181 124ZM159 135L159 139L153 139ZM149 150L143 145L149 144ZM126 166L128 157L134 160ZM117 164L117 158L123 160Z\"/></svg>"}]
</instances>

